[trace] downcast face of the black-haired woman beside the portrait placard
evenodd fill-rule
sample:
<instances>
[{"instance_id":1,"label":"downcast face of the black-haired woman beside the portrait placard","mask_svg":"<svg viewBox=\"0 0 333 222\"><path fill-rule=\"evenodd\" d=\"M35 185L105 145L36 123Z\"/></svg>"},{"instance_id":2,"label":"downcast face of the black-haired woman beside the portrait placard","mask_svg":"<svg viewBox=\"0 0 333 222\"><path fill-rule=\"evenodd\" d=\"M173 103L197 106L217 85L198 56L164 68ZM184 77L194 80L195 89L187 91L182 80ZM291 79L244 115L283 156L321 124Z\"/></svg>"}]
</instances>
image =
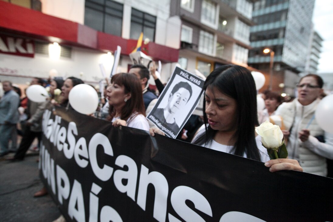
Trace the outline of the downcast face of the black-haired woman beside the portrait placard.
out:
<instances>
[{"instance_id":1,"label":"downcast face of the black-haired woman beside the portrait placard","mask_svg":"<svg viewBox=\"0 0 333 222\"><path fill-rule=\"evenodd\" d=\"M237 129L237 103L218 89L209 87L205 91L208 123L214 130L235 131Z\"/></svg>"}]
</instances>

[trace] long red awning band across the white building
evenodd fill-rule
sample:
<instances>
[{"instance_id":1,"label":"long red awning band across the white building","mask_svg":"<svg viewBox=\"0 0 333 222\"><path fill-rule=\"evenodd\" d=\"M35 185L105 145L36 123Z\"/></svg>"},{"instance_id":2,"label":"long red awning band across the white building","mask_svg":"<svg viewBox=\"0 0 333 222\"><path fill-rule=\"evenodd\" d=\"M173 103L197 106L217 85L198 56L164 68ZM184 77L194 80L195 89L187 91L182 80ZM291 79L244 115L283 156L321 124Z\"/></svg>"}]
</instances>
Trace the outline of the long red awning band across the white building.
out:
<instances>
[{"instance_id":1,"label":"long red awning band across the white building","mask_svg":"<svg viewBox=\"0 0 333 222\"><path fill-rule=\"evenodd\" d=\"M137 40L96 31L76 22L46 15L11 3L0 1L0 33L33 38L63 45L115 51L122 47L122 54L129 55ZM154 60L177 62L179 50L150 42L142 50ZM161 53L163 52L163 53Z\"/></svg>"}]
</instances>

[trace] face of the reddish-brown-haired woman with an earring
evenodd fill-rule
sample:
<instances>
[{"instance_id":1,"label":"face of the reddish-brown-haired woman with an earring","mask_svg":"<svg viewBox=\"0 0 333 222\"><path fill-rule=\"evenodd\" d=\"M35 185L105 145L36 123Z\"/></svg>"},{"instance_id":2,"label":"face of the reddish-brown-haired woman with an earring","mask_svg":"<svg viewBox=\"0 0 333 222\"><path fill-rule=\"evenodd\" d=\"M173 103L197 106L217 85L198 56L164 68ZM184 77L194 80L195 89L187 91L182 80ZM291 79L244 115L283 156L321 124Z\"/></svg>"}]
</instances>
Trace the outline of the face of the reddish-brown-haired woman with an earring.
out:
<instances>
[{"instance_id":1,"label":"face of the reddish-brown-haired woman with an earring","mask_svg":"<svg viewBox=\"0 0 333 222\"><path fill-rule=\"evenodd\" d=\"M123 107L126 102L125 99L127 94L125 94L125 87L118 84L112 83L107 88L107 97L109 104L114 107Z\"/></svg>"}]
</instances>

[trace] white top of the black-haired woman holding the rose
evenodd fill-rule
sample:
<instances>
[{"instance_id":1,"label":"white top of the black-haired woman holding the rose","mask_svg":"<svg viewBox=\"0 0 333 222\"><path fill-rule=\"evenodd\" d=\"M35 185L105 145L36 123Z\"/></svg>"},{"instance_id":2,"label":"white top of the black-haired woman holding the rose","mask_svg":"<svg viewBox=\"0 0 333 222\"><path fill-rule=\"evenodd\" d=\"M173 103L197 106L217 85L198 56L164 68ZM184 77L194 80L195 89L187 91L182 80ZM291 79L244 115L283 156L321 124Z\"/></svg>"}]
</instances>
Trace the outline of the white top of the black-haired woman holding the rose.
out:
<instances>
[{"instance_id":1,"label":"white top of the black-haired woman holding the rose","mask_svg":"<svg viewBox=\"0 0 333 222\"><path fill-rule=\"evenodd\" d=\"M202 125L198 129L198 133L194 136L193 140L196 139L202 133L205 133L204 125ZM267 154L267 149L265 147L263 147L262 144L261 144L261 137L259 135L256 136L255 141L256 141L257 147L259 149L261 162L267 162L269 160L269 156ZM208 142L207 144L201 144L201 146L209 148L209 149L217 150L217 151L220 151L220 152L233 154L231 152L233 146L223 145L223 144L220 144L220 143L216 142L215 140L212 140L211 143ZM243 157L247 158L246 153L244 153Z\"/></svg>"}]
</instances>

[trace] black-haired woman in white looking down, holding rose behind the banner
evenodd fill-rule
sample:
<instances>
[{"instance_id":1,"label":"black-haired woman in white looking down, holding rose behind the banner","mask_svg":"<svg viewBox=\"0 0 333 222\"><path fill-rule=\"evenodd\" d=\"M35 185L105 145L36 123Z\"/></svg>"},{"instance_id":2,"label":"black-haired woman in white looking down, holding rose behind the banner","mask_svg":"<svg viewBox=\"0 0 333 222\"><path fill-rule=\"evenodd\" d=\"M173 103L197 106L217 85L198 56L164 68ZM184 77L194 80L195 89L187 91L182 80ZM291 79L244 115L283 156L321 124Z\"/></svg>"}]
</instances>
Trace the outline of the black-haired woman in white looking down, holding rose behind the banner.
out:
<instances>
[{"instance_id":1,"label":"black-haired woman in white looking down, holding rose behind the banner","mask_svg":"<svg viewBox=\"0 0 333 222\"><path fill-rule=\"evenodd\" d=\"M265 162L271 172L302 171L296 160L269 160L260 136L255 137L254 129L258 125L256 89L249 70L237 65L221 66L207 77L204 90L205 124L199 128L192 143ZM156 129L150 132L151 135L159 133Z\"/></svg>"}]
</instances>

